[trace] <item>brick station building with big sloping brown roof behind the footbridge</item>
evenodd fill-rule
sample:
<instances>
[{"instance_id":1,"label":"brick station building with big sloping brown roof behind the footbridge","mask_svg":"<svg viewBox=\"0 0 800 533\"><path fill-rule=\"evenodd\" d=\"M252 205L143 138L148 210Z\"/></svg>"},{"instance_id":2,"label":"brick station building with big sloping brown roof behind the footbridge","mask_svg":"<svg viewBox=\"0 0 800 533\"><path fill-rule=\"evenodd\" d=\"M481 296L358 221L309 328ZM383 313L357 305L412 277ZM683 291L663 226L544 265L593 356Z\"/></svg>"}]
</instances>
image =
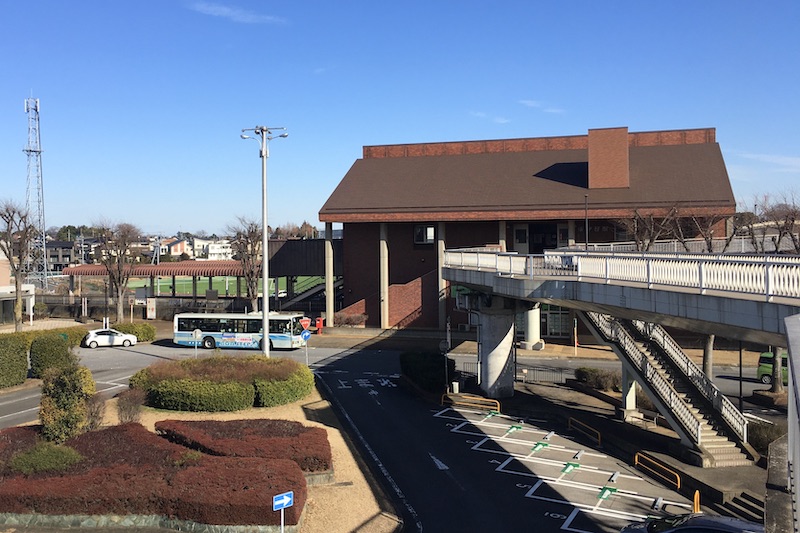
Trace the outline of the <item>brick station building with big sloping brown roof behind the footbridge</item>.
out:
<instances>
[{"instance_id":1,"label":"brick station building with big sloping brown roof behind the footbridge","mask_svg":"<svg viewBox=\"0 0 800 533\"><path fill-rule=\"evenodd\" d=\"M631 221L668 217L689 233L697 231L691 220L714 221L718 237L735 210L714 128L619 127L364 146L319 218L326 235L342 224L342 313L371 327L467 329L469 317L453 309L454 288L441 276L445 249L541 254L629 241ZM568 311L535 312L527 320L542 337L570 335Z\"/></svg>"}]
</instances>

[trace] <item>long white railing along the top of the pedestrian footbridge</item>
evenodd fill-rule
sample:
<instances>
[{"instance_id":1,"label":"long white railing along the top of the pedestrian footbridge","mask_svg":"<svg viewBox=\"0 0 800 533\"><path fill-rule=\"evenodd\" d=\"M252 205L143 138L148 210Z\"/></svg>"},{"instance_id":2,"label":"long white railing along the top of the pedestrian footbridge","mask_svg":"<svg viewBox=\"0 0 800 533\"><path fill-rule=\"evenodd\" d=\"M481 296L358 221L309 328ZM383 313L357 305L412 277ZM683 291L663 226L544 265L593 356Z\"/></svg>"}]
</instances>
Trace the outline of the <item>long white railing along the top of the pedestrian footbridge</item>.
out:
<instances>
[{"instance_id":1,"label":"long white railing along the top of the pedestrian footbridge","mask_svg":"<svg viewBox=\"0 0 800 533\"><path fill-rule=\"evenodd\" d=\"M800 258L704 254L608 254L548 252L519 255L474 250L445 251L445 265L517 277L574 277L578 281L641 283L706 291L800 298Z\"/></svg>"}]
</instances>

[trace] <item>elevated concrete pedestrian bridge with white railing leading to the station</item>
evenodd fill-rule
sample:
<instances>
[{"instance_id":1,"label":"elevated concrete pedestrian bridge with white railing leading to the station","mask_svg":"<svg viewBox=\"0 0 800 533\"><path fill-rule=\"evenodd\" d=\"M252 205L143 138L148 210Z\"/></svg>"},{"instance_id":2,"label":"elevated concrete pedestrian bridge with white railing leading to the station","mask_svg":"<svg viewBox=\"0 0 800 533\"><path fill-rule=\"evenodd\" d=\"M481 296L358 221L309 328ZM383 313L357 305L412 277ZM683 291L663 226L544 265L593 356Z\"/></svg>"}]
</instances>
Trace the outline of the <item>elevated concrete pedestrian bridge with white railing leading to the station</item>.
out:
<instances>
[{"instance_id":1,"label":"elevated concrete pedestrian bridge with white railing leading to the station","mask_svg":"<svg viewBox=\"0 0 800 533\"><path fill-rule=\"evenodd\" d=\"M447 250L443 277L487 294L786 346L793 256Z\"/></svg>"}]
</instances>

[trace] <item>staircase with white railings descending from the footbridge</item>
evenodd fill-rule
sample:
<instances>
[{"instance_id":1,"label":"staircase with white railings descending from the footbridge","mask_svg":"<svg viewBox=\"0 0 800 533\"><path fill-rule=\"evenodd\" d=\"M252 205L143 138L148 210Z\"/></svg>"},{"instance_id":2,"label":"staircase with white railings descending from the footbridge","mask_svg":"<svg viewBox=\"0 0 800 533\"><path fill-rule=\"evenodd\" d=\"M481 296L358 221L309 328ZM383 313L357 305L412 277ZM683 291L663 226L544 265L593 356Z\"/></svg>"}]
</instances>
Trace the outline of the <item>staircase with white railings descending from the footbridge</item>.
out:
<instances>
[{"instance_id":1,"label":"staircase with white railings descending from the footbridge","mask_svg":"<svg viewBox=\"0 0 800 533\"><path fill-rule=\"evenodd\" d=\"M583 313L594 335L609 345L703 466L752 465L747 420L661 326Z\"/></svg>"}]
</instances>

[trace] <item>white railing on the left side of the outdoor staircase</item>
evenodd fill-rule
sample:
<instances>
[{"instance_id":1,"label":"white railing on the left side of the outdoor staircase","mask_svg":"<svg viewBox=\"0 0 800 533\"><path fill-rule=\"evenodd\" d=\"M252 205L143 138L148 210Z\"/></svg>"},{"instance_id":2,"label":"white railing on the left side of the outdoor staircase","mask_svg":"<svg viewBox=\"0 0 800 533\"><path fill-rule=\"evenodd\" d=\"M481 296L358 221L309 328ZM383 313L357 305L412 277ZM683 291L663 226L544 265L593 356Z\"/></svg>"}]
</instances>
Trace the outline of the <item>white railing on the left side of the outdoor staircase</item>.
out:
<instances>
[{"instance_id":1,"label":"white railing on the left side of the outdoor staircase","mask_svg":"<svg viewBox=\"0 0 800 533\"><path fill-rule=\"evenodd\" d=\"M620 345L636 368L641 372L642 377L647 381L653 391L661 398L664 405L677 418L681 427L687 432L692 442L701 444L701 422L695 418L689 406L683 398L672 387L669 381L662 376L658 370L650 364L647 355L644 354L630 333L625 331L613 318L595 312L586 313L595 326L601 330L603 336Z\"/></svg>"}]
</instances>

